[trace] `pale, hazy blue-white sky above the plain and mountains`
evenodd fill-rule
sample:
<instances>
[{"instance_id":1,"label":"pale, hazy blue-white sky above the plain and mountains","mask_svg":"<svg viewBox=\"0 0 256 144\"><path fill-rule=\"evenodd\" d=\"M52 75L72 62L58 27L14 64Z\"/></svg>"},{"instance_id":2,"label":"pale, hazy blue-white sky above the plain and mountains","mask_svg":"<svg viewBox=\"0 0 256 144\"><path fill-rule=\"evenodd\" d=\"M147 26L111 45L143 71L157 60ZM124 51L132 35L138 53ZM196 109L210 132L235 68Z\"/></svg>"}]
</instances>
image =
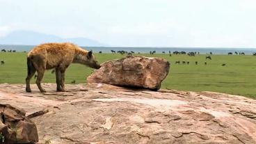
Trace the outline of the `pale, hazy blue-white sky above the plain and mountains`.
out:
<instances>
[{"instance_id":1,"label":"pale, hazy blue-white sky above the plain and mountains","mask_svg":"<svg viewBox=\"0 0 256 144\"><path fill-rule=\"evenodd\" d=\"M255 0L0 0L0 36L29 30L125 47L256 47Z\"/></svg>"}]
</instances>

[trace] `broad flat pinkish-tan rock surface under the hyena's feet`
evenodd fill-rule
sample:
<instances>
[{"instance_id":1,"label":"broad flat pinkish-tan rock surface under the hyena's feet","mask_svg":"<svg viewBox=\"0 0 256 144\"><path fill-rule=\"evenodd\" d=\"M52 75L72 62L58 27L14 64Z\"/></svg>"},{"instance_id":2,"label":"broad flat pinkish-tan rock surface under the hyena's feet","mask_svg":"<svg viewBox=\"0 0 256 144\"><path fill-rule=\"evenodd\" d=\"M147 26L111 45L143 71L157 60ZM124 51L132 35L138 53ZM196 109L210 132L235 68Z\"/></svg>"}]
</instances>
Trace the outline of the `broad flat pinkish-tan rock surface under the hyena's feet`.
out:
<instances>
[{"instance_id":1,"label":"broad flat pinkish-tan rock surface under the hyena's feet","mask_svg":"<svg viewBox=\"0 0 256 144\"><path fill-rule=\"evenodd\" d=\"M106 84L0 84L1 104L31 115L39 143L256 143L256 100L177 90L132 90Z\"/></svg>"}]
</instances>

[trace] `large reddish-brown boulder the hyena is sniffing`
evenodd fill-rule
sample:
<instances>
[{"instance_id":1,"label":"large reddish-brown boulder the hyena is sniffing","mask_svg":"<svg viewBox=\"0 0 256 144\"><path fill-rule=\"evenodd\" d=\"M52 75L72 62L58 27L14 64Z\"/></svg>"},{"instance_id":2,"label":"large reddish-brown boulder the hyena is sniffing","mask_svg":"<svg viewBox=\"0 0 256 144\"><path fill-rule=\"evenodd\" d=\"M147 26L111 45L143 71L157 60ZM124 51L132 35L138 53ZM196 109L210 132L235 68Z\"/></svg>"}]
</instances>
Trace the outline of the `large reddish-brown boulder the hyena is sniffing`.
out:
<instances>
[{"instance_id":1,"label":"large reddish-brown boulder the hyena is sniffing","mask_svg":"<svg viewBox=\"0 0 256 144\"><path fill-rule=\"evenodd\" d=\"M127 56L103 63L87 78L87 82L159 89L169 68L170 63L163 58Z\"/></svg>"}]
</instances>

